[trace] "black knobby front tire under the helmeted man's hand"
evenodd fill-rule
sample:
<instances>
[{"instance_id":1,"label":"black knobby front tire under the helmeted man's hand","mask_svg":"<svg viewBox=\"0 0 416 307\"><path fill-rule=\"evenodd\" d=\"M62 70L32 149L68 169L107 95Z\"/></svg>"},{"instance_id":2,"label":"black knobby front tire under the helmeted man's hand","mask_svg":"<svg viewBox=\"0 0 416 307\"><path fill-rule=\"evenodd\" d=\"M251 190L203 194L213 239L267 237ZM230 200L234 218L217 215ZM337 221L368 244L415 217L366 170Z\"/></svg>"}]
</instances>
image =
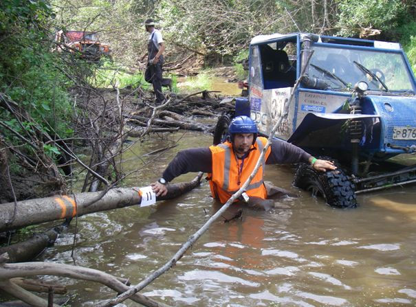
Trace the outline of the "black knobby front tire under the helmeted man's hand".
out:
<instances>
[{"instance_id":1,"label":"black knobby front tire under the helmeted man's hand","mask_svg":"<svg viewBox=\"0 0 416 307\"><path fill-rule=\"evenodd\" d=\"M337 167L336 170L318 172L309 164L301 163L293 184L311 192L314 197L321 196L331 207L355 208L358 205L355 187L340 166Z\"/></svg>"}]
</instances>

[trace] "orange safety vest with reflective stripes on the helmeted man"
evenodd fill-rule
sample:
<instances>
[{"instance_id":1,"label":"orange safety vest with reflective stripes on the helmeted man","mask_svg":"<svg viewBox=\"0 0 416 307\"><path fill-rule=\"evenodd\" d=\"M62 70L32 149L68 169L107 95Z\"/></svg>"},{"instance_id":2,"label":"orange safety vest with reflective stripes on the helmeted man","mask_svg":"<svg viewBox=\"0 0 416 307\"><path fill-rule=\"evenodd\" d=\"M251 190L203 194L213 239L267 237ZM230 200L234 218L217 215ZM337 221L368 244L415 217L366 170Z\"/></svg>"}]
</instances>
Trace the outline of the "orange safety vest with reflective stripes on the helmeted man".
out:
<instances>
[{"instance_id":1,"label":"orange safety vest with reflective stripes on the helmeted man","mask_svg":"<svg viewBox=\"0 0 416 307\"><path fill-rule=\"evenodd\" d=\"M256 166L257 160L261 155L267 139L257 137L248 157L244 160L238 159L232 149L232 144L228 141L217 146L210 146L212 154L212 173L208 174L212 197L218 199L221 203L226 203L228 199L237 192L241 185L250 177L250 174ZM247 187L248 196L257 196L265 199L267 191L263 183L263 172L265 161L269 157L271 148L267 148L265 158L256 175ZM239 174L239 168L243 163L243 168ZM239 184L240 183L240 184Z\"/></svg>"}]
</instances>

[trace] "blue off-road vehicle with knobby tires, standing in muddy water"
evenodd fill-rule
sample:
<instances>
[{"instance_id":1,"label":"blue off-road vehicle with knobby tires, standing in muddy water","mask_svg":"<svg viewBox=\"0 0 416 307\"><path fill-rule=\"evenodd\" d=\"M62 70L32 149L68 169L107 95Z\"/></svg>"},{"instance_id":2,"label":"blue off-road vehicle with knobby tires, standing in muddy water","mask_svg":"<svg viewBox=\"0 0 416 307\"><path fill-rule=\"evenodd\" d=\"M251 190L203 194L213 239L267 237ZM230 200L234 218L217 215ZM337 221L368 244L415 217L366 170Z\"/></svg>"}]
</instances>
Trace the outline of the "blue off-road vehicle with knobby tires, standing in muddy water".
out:
<instances>
[{"instance_id":1,"label":"blue off-road vehicle with knobby tires, standing in muddy water","mask_svg":"<svg viewBox=\"0 0 416 307\"><path fill-rule=\"evenodd\" d=\"M234 113L219 118L214 144L233 116L250 115L263 135L283 117L275 137L336 159L336 171L301 164L294 177L294 185L334 207L355 207L358 193L416 182L410 156L416 152L416 82L398 43L261 35L250 43L248 73L248 98L237 98ZM402 154L408 156L390 159Z\"/></svg>"}]
</instances>

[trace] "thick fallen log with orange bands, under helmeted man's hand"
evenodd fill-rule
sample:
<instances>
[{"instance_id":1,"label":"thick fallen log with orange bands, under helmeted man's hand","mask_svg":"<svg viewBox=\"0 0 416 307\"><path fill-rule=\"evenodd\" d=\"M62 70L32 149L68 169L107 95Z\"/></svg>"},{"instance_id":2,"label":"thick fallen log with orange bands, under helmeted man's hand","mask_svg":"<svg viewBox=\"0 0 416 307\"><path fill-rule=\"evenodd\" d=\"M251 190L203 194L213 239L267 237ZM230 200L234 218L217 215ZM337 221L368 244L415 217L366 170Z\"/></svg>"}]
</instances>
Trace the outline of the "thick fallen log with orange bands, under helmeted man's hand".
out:
<instances>
[{"instance_id":1,"label":"thick fallen log with orange bands, under helmeted man's hand","mask_svg":"<svg viewBox=\"0 0 416 307\"><path fill-rule=\"evenodd\" d=\"M175 198L193 190L199 185L201 177L202 173L199 173L193 181L168 185L168 194L163 197L158 196L156 201ZM18 201L14 220L11 219L14 213L14 203L4 203L0 205L0 231L136 205L142 201L139 189L140 187L111 189L99 201L91 205L89 205L89 202L94 200L101 192L85 192L73 196L63 195Z\"/></svg>"}]
</instances>

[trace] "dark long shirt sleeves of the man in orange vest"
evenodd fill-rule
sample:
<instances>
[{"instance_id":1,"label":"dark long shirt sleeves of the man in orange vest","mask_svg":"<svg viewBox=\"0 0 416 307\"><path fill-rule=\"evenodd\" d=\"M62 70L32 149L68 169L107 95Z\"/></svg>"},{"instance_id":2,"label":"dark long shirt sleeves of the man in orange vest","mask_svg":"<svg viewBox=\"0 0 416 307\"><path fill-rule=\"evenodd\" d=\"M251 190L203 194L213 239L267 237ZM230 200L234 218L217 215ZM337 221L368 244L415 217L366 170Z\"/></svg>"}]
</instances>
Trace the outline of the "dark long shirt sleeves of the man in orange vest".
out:
<instances>
[{"instance_id":1,"label":"dark long shirt sleeves of the man in orange vest","mask_svg":"<svg viewBox=\"0 0 416 307\"><path fill-rule=\"evenodd\" d=\"M273 139L270 147L272 151L266 164L307 162L311 157L305 150L280 139ZM179 151L164 170L163 178L166 181L172 181L180 174L187 172L212 172L212 154L208 147Z\"/></svg>"}]
</instances>

